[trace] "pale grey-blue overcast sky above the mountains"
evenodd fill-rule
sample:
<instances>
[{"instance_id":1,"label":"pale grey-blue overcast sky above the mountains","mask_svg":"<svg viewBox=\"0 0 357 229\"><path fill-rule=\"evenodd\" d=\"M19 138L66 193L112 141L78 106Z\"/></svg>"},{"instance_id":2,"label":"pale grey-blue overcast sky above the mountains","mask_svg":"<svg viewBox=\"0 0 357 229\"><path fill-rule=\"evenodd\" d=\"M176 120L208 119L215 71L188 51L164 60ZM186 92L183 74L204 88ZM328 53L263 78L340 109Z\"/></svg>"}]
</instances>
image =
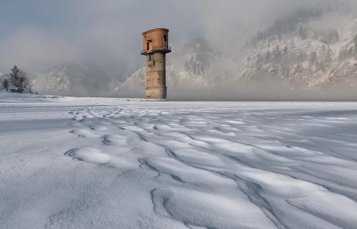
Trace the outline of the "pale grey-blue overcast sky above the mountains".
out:
<instances>
[{"instance_id":1,"label":"pale grey-blue overcast sky above the mountains","mask_svg":"<svg viewBox=\"0 0 357 229\"><path fill-rule=\"evenodd\" d=\"M170 43L205 35L234 45L295 7L330 0L0 0L0 72L63 61L142 61L141 33L170 30ZM332 0L331 0L332 1Z\"/></svg>"}]
</instances>

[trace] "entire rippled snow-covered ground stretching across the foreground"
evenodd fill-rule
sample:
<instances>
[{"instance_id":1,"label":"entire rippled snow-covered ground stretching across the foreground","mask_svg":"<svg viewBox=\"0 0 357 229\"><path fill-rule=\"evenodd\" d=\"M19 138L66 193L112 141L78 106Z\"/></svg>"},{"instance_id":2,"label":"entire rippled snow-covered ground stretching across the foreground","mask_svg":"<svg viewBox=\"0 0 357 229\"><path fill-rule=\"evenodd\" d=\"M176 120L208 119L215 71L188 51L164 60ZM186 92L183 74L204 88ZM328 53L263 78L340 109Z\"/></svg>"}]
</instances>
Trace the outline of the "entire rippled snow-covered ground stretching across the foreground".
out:
<instances>
[{"instance_id":1,"label":"entire rippled snow-covered ground stretching across the foreground","mask_svg":"<svg viewBox=\"0 0 357 229\"><path fill-rule=\"evenodd\" d=\"M357 228L356 137L357 103L0 93L0 225Z\"/></svg>"}]
</instances>

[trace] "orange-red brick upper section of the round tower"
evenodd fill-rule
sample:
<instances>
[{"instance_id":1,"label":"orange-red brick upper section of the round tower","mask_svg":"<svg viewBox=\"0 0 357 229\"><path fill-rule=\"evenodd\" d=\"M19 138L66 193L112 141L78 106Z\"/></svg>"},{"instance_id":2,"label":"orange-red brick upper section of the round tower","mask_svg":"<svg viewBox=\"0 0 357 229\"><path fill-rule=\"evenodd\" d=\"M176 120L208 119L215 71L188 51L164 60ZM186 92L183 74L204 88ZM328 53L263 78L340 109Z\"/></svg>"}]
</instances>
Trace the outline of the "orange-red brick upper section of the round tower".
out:
<instances>
[{"instance_id":1,"label":"orange-red brick upper section of the round tower","mask_svg":"<svg viewBox=\"0 0 357 229\"><path fill-rule=\"evenodd\" d=\"M143 49L141 55L147 56L152 53L171 53L169 44L169 30L158 28L149 30L143 35Z\"/></svg>"}]
</instances>

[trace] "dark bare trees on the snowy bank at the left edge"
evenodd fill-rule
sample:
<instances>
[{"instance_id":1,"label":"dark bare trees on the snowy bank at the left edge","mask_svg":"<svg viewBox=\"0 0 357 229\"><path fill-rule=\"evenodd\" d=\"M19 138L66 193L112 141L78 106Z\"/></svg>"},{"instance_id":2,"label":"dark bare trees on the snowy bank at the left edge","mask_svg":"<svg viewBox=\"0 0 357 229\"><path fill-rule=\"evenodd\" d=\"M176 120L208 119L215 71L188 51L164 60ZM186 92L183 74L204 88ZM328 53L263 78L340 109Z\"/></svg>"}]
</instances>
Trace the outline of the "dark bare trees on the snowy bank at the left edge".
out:
<instances>
[{"instance_id":1,"label":"dark bare trees on the snowy bank at the left edge","mask_svg":"<svg viewBox=\"0 0 357 229\"><path fill-rule=\"evenodd\" d=\"M9 91L10 83L16 88L28 88L29 92L32 93L32 84L29 80L29 75L24 70L19 69L16 65L11 68L11 73L7 75L2 82L2 86L6 91Z\"/></svg>"}]
</instances>

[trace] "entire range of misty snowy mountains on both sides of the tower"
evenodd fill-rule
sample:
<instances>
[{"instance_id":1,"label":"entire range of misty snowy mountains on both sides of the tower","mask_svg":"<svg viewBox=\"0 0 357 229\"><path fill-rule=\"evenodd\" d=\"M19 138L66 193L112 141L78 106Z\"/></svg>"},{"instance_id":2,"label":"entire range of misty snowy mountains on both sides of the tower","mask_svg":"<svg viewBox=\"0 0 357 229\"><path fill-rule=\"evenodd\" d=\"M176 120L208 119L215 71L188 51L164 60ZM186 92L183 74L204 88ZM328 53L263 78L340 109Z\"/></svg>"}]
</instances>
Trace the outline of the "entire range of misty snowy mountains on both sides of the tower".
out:
<instances>
[{"instance_id":1,"label":"entire range of misty snowy mountains on both sides of the tower","mask_svg":"<svg viewBox=\"0 0 357 229\"><path fill-rule=\"evenodd\" d=\"M289 99L286 95L294 91L299 96L316 90L356 91L357 16L347 4L327 2L286 12L251 32L246 42L217 46L201 37L176 45L167 55L168 97L268 99L282 94ZM242 36L237 40L245 36L237 34ZM126 78L134 65L123 63L56 65L34 81L34 88L61 95L144 97L146 68Z\"/></svg>"}]
</instances>

